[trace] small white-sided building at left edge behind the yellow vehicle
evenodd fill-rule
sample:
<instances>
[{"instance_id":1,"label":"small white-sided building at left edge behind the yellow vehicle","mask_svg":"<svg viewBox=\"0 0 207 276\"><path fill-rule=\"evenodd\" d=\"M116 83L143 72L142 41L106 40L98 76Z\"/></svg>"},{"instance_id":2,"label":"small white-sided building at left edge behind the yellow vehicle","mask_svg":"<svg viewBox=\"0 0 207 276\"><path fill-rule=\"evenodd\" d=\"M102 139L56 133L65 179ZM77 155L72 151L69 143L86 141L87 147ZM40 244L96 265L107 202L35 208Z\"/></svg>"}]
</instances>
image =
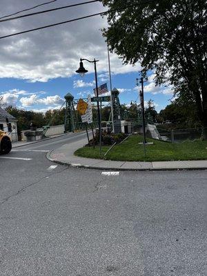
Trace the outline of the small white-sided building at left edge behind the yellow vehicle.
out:
<instances>
[{"instance_id":1,"label":"small white-sided building at left edge behind the yellow vehicle","mask_svg":"<svg viewBox=\"0 0 207 276\"><path fill-rule=\"evenodd\" d=\"M17 119L0 107L0 130L6 132L12 141L18 141Z\"/></svg>"}]
</instances>

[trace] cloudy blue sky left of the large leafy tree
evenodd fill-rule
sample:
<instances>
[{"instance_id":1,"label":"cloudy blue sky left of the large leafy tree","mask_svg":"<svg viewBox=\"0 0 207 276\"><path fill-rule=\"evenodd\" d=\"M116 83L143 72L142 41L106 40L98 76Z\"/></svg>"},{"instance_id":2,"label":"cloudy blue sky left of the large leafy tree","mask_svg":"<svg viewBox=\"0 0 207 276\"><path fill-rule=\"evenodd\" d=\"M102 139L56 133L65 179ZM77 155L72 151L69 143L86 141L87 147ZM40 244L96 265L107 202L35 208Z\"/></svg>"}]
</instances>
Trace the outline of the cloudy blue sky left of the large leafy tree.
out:
<instances>
[{"instance_id":1,"label":"cloudy blue sky left of the large leafy tree","mask_svg":"<svg viewBox=\"0 0 207 276\"><path fill-rule=\"evenodd\" d=\"M0 17L49 0L1 0ZM29 12L48 10L85 0L57 0ZM100 2L66 8L54 12L38 14L13 21L0 22L0 37L32 28L83 17L102 12ZM106 8L105 8L106 10ZM18 14L19 15L19 14ZM1 20L1 19L0 19ZM58 109L64 102L64 96L70 92L75 99L93 95L95 72L92 63L84 62L88 73L81 78L75 70L79 68L79 59L99 60L97 74L99 85L108 83L108 52L101 28L107 28L106 17L91 17L61 26L28 32L14 37L0 39L0 96L7 105L24 110L46 112ZM110 53L112 88L120 92L121 103L139 103L139 90L136 79L141 66L123 65L121 57ZM172 99L170 87L156 87L153 72L148 72L148 81L144 83L144 99L152 99L155 109L164 109Z\"/></svg>"}]
</instances>

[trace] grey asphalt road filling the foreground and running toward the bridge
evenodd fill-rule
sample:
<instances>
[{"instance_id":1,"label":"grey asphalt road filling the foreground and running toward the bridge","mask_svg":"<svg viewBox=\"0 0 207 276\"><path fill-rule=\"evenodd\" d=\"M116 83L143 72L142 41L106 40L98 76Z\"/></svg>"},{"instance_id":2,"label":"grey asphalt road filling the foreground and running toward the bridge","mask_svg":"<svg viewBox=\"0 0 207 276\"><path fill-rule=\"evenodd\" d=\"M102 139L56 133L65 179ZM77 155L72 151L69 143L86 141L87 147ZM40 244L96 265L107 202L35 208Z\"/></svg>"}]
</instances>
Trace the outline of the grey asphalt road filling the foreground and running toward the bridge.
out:
<instances>
[{"instance_id":1,"label":"grey asphalt road filling the foreground and running toward the bridge","mask_svg":"<svg viewBox=\"0 0 207 276\"><path fill-rule=\"evenodd\" d=\"M83 137L0 158L0 275L206 275L207 172L103 175L46 159Z\"/></svg>"}]
</instances>

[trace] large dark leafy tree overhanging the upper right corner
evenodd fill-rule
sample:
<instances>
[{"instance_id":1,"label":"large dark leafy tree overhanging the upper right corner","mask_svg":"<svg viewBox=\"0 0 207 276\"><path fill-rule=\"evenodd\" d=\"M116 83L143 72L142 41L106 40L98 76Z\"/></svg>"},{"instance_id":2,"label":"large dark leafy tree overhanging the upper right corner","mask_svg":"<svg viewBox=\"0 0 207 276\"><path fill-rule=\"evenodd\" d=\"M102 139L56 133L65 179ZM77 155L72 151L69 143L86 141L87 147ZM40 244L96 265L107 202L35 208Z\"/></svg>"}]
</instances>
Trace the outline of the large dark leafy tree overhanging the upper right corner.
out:
<instances>
[{"instance_id":1,"label":"large dark leafy tree overhanging the upper right corner","mask_svg":"<svg viewBox=\"0 0 207 276\"><path fill-rule=\"evenodd\" d=\"M102 2L110 10L103 30L110 50L124 63L141 62L143 76L154 70L157 85L168 83L180 101L195 103L207 127L207 1Z\"/></svg>"}]
</instances>

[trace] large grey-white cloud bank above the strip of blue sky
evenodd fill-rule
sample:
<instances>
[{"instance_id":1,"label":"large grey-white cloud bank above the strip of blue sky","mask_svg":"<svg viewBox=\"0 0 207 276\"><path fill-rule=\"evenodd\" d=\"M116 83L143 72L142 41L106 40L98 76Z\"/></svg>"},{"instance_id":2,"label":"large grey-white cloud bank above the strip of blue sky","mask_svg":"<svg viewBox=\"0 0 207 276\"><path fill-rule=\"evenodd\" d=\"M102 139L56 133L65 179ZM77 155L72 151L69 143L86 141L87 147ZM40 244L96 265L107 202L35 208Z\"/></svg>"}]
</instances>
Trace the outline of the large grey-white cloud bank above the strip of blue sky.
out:
<instances>
[{"instance_id":1,"label":"large grey-white cloud bank above the strip of blue sky","mask_svg":"<svg viewBox=\"0 0 207 276\"><path fill-rule=\"evenodd\" d=\"M1 0L1 15L15 12L17 0ZM33 0L32 4L39 3ZM61 2L63 3L63 2ZM68 1L66 1L68 3ZM27 8L28 1L18 0L18 9ZM50 4L59 6L58 1ZM1 36L22 30L44 26L58 21L66 21L76 17L101 12L100 2L77 8L48 12L33 17L1 23ZM71 77L79 66L81 57L98 59L98 74L108 72L108 52L101 28L107 26L106 17L92 17L73 23L63 24L46 30L28 32L15 37L1 39L0 77L14 77L34 81L48 81L57 77ZM140 66L123 66L121 59L110 54L113 74L135 72ZM84 61L88 72L94 73L92 63ZM102 77L106 81L106 76Z\"/></svg>"}]
</instances>

